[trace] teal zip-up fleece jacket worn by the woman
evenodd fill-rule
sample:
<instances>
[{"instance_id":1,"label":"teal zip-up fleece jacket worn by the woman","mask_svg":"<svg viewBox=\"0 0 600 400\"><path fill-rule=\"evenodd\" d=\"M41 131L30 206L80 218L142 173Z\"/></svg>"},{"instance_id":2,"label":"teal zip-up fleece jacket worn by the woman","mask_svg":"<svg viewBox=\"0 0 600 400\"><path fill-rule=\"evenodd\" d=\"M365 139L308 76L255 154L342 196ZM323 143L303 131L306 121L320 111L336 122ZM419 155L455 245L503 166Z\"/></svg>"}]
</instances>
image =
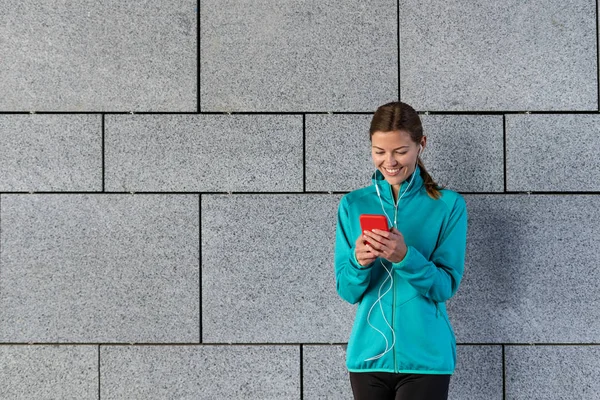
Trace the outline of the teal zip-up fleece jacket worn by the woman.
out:
<instances>
[{"instance_id":1,"label":"teal zip-up fleece jacket worn by the woman","mask_svg":"<svg viewBox=\"0 0 600 400\"><path fill-rule=\"evenodd\" d=\"M346 353L352 372L452 374L455 369L456 339L445 301L456 293L464 271L467 209L463 197L451 190L442 189L438 200L429 197L419 167L415 174L398 204L397 229L408 248L398 263L378 258L362 267L354 253L361 235L360 214L384 214L383 203L394 221L392 188L381 172L373 175L373 185L340 200L336 288L342 299L358 303ZM410 179L402 183L400 193ZM379 187L381 202L374 185Z\"/></svg>"}]
</instances>

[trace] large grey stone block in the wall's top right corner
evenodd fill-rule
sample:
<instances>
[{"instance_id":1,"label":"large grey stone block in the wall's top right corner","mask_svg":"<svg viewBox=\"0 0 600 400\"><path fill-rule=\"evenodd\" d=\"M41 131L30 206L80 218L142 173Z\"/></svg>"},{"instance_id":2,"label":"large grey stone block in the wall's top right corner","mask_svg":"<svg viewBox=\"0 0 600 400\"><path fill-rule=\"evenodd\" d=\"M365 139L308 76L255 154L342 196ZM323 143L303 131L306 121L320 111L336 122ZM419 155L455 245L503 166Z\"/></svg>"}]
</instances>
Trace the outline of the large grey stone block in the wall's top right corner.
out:
<instances>
[{"instance_id":1,"label":"large grey stone block in the wall's top right corner","mask_svg":"<svg viewBox=\"0 0 600 400\"><path fill-rule=\"evenodd\" d=\"M400 0L401 97L428 111L597 111L596 2Z\"/></svg>"}]
</instances>

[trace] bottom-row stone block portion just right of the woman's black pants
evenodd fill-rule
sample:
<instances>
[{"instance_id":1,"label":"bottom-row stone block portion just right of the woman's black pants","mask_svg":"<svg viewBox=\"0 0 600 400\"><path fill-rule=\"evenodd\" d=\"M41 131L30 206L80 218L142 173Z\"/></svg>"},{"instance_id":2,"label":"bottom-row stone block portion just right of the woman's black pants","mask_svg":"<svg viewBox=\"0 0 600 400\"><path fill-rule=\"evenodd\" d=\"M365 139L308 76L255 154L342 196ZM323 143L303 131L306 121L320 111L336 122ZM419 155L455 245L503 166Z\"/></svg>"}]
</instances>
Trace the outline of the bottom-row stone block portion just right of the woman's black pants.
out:
<instances>
[{"instance_id":1,"label":"bottom-row stone block portion just right of the woman's black pants","mask_svg":"<svg viewBox=\"0 0 600 400\"><path fill-rule=\"evenodd\" d=\"M503 400L502 346L456 347L449 400Z\"/></svg>"}]
</instances>

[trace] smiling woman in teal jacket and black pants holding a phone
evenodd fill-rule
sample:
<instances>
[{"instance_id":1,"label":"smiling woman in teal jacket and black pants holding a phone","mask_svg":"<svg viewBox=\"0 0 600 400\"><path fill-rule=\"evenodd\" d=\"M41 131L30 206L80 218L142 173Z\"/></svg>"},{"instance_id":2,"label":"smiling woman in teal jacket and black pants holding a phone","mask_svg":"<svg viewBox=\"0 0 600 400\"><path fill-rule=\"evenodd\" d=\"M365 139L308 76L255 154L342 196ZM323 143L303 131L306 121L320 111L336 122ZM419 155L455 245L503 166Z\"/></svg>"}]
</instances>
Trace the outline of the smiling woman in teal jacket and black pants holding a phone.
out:
<instances>
[{"instance_id":1,"label":"smiling woman in teal jacket and black pants holding a phone","mask_svg":"<svg viewBox=\"0 0 600 400\"><path fill-rule=\"evenodd\" d=\"M370 137L373 184L342 197L335 243L337 291L358 303L346 354L354 398L447 399L456 340L445 301L464 271L465 201L425 170L411 106L379 107ZM361 214L385 215L390 231L361 232Z\"/></svg>"}]
</instances>

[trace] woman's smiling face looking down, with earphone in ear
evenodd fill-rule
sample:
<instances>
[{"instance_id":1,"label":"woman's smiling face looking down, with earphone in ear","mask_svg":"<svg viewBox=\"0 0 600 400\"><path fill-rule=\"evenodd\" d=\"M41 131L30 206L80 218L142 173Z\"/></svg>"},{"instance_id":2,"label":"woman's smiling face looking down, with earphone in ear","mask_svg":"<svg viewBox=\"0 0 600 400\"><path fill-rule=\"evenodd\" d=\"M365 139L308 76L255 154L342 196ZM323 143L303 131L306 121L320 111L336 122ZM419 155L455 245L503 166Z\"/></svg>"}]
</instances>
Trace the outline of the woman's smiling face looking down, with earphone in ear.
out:
<instances>
[{"instance_id":1,"label":"woman's smiling face looking down, with earphone in ear","mask_svg":"<svg viewBox=\"0 0 600 400\"><path fill-rule=\"evenodd\" d=\"M425 148L427 139L421 139ZM377 131L371 136L371 156L375 167L390 185L400 185L415 170L419 144L406 131Z\"/></svg>"}]
</instances>

